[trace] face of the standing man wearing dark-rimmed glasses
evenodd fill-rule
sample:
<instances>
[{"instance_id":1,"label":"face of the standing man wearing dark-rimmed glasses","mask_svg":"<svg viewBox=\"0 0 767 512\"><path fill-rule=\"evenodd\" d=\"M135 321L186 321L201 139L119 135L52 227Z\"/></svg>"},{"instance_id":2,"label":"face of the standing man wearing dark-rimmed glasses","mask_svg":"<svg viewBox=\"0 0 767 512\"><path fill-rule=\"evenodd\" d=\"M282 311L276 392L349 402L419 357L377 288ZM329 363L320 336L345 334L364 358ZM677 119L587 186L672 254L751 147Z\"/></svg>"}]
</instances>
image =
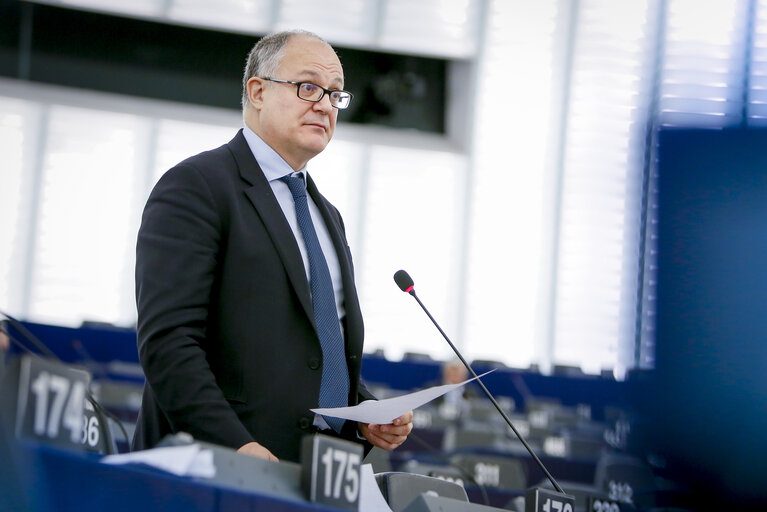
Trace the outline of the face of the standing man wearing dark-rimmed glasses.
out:
<instances>
[{"instance_id":1,"label":"face of the standing man wearing dark-rimmed glasses","mask_svg":"<svg viewBox=\"0 0 767 512\"><path fill-rule=\"evenodd\" d=\"M313 82L326 89L344 85L343 68L332 48L303 35L290 38L271 78ZM309 102L296 95L295 85L254 78L249 94L251 107L257 111L256 126L251 128L293 169L301 169L333 137L338 110L330 106L327 94L318 102Z\"/></svg>"}]
</instances>

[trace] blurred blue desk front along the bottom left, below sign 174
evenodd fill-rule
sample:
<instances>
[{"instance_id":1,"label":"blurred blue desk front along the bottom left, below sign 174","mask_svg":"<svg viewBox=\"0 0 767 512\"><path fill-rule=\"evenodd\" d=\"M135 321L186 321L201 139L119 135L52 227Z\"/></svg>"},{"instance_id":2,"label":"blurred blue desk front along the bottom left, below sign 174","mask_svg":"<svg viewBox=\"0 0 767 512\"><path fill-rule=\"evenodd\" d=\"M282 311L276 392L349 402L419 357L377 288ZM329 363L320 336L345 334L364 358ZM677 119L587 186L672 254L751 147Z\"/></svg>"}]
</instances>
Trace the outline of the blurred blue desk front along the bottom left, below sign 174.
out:
<instances>
[{"instance_id":1,"label":"blurred blue desk front along the bottom left, below sign 174","mask_svg":"<svg viewBox=\"0 0 767 512\"><path fill-rule=\"evenodd\" d=\"M294 497L247 492L140 465L111 466L101 456L12 441L19 494L33 512L321 512L336 510ZM7 464L7 461L3 461ZM7 469L7 468L6 468ZM0 500L8 496L0 482ZM5 510L4 506L0 506Z\"/></svg>"}]
</instances>

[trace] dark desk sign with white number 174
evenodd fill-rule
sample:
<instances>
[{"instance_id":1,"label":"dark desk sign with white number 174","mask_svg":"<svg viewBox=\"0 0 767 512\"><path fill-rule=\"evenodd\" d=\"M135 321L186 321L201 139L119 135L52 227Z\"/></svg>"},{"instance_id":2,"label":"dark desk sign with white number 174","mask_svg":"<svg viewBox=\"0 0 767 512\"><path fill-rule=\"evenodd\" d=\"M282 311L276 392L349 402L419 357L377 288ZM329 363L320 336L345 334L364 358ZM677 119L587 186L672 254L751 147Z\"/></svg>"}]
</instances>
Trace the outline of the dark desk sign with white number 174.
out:
<instances>
[{"instance_id":1,"label":"dark desk sign with white number 174","mask_svg":"<svg viewBox=\"0 0 767 512\"><path fill-rule=\"evenodd\" d=\"M24 357L19 369L17 437L82 448L90 375L55 361Z\"/></svg>"}]
</instances>

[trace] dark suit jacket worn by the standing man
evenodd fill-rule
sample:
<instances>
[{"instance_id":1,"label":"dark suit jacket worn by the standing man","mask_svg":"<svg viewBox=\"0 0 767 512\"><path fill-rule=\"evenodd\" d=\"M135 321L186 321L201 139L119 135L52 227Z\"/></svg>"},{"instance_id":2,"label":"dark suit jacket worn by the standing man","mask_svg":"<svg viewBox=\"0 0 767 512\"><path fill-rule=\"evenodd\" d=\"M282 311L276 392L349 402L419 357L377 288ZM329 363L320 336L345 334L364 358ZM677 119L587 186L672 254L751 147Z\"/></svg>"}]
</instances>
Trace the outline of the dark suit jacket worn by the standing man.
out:
<instances>
[{"instance_id":1,"label":"dark suit jacket worn by the standing man","mask_svg":"<svg viewBox=\"0 0 767 512\"><path fill-rule=\"evenodd\" d=\"M338 253L349 404L363 325L338 211L308 180ZM134 449L168 433L239 448L257 441L299 458L322 375L309 285L293 232L240 131L159 180L136 250L138 348L147 377ZM356 425L343 434L356 439Z\"/></svg>"}]
</instances>

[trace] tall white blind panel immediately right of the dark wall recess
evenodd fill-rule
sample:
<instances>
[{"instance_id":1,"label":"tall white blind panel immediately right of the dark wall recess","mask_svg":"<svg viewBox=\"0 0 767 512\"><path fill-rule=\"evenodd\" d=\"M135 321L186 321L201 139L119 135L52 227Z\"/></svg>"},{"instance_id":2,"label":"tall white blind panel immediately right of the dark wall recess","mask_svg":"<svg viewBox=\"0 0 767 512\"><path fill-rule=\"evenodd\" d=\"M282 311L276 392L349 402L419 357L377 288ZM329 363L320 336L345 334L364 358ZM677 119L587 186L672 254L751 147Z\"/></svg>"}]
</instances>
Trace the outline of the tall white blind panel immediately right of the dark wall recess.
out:
<instances>
[{"instance_id":1,"label":"tall white blind panel immediately right of the dark wall recess","mask_svg":"<svg viewBox=\"0 0 767 512\"><path fill-rule=\"evenodd\" d=\"M489 3L473 120L463 343L526 367L543 346L556 0Z\"/></svg>"}]
</instances>

